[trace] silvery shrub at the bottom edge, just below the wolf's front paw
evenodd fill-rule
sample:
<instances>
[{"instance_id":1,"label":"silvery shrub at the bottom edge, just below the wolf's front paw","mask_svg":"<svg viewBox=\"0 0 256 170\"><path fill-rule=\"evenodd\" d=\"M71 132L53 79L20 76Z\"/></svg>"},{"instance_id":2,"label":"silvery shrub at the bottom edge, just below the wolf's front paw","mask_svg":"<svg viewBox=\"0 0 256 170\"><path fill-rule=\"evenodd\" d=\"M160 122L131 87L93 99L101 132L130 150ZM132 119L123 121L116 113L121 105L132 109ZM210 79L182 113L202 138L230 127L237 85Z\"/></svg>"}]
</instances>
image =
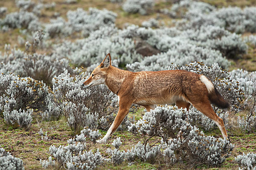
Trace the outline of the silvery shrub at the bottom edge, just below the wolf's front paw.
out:
<instances>
[{"instance_id":1,"label":"silvery shrub at the bottom edge, just below the wolf's front paw","mask_svg":"<svg viewBox=\"0 0 256 170\"><path fill-rule=\"evenodd\" d=\"M99 130L93 131L84 128L80 135L67 141L67 146L55 147L52 145L49 148L49 153L55 158L55 161L52 161L52 156L50 156L49 160L40 160L40 162L45 168L60 166L68 170L95 169L97 165L102 163L102 156L99 149L96 152L89 150L90 143L87 141L90 139L95 142L100 136Z\"/></svg>"}]
</instances>

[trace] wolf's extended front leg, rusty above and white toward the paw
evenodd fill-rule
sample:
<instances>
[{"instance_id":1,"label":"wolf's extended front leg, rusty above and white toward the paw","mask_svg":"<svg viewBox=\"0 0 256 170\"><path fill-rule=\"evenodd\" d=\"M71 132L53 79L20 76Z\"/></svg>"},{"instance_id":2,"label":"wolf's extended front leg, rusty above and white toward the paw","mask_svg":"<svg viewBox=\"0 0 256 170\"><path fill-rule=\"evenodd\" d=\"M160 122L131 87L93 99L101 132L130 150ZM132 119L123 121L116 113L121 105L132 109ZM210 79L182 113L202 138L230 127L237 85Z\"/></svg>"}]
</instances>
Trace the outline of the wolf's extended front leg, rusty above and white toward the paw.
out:
<instances>
[{"instance_id":1,"label":"wolf's extended front leg, rusty above and white toward the paw","mask_svg":"<svg viewBox=\"0 0 256 170\"><path fill-rule=\"evenodd\" d=\"M125 119L125 116L129 113L129 109L132 103L128 103L127 101L125 102L121 101L121 99L119 100L119 110L116 114L116 118L111 127L109 127L107 134L102 139L98 140L98 143L106 143L107 140L111 138L113 133L115 133L116 129L121 125L122 121Z\"/></svg>"}]
</instances>

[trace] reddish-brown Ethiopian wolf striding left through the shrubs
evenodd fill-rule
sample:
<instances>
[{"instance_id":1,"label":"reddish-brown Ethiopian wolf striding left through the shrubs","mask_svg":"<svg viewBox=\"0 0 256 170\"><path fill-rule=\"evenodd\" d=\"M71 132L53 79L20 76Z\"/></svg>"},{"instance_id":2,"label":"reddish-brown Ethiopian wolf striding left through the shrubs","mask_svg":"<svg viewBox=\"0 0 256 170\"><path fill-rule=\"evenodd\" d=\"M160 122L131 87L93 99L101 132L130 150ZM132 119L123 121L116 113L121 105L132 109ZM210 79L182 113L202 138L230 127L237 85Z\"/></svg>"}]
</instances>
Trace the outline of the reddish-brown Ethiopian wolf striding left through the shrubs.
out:
<instances>
[{"instance_id":1,"label":"reddish-brown Ethiopian wolf striding left through the shrubs","mask_svg":"<svg viewBox=\"0 0 256 170\"><path fill-rule=\"evenodd\" d=\"M227 138L223 120L213 111L211 103L219 108L230 108L227 101L204 75L185 70L170 71L124 71L111 65L108 54L97 66L83 86L85 88L104 84L118 96L119 111L107 134L98 142L105 143L128 114L133 103L142 105L147 111L154 105L175 103L178 108L193 105L198 111L212 119Z\"/></svg>"}]
</instances>

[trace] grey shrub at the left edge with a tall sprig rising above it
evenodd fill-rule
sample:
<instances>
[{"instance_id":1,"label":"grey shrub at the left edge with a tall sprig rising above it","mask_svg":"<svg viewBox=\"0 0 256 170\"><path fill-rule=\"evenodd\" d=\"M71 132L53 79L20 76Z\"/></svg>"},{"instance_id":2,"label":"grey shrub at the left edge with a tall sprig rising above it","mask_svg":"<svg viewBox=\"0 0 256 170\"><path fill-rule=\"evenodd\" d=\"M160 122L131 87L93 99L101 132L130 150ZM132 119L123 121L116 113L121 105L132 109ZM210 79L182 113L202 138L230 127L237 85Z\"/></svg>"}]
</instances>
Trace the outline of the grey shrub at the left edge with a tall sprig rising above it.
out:
<instances>
[{"instance_id":1,"label":"grey shrub at the left edge with a tall sprig rising above it","mask_svg":"<svg viewBox=\"0 0 256 170\"><path fill-rule=\"evenodd\" d=\"M19 49L12 49L11 51L7 49L6 53L0 56L0 61L3 63L0 72L32 77L33 79L43 80L47 85L51 85L52 78L61 74L63 68L69 69L70 66L68 59L58 55L52 54L49 56L35 53L38 45L42 43L43 36L44 34L41 31L37 31L33 36L32 45L29 42L25 44L27 52ZM32 54L29 54L31 46Z\"/></svg>"}]
</instances>

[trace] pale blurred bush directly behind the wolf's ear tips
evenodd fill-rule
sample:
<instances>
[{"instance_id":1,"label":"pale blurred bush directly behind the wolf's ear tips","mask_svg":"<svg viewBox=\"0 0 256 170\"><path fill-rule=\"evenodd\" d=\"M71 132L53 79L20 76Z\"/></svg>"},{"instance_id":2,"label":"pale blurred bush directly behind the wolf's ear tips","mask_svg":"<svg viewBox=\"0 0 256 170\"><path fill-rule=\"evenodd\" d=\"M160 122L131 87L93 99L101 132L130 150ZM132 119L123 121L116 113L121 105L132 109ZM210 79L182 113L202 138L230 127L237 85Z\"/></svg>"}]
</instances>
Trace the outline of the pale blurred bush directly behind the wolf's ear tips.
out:
<instances>
[{"instance_id":1,"label":"pale blurred bush directly behind the wolf's ear tips","mask_svg":"<svg viewBox=\"0 0 256 170\"><path fill-rule=\"evenodd\" d=\"M120 66L140 61L142 57L135 50L134 40L120 37L113 26L100 28L88 38L55 46L55 54L68 56L76 65L99 64L107 53L111 53L113 63Z\"/></svg>"}]
</instances>

